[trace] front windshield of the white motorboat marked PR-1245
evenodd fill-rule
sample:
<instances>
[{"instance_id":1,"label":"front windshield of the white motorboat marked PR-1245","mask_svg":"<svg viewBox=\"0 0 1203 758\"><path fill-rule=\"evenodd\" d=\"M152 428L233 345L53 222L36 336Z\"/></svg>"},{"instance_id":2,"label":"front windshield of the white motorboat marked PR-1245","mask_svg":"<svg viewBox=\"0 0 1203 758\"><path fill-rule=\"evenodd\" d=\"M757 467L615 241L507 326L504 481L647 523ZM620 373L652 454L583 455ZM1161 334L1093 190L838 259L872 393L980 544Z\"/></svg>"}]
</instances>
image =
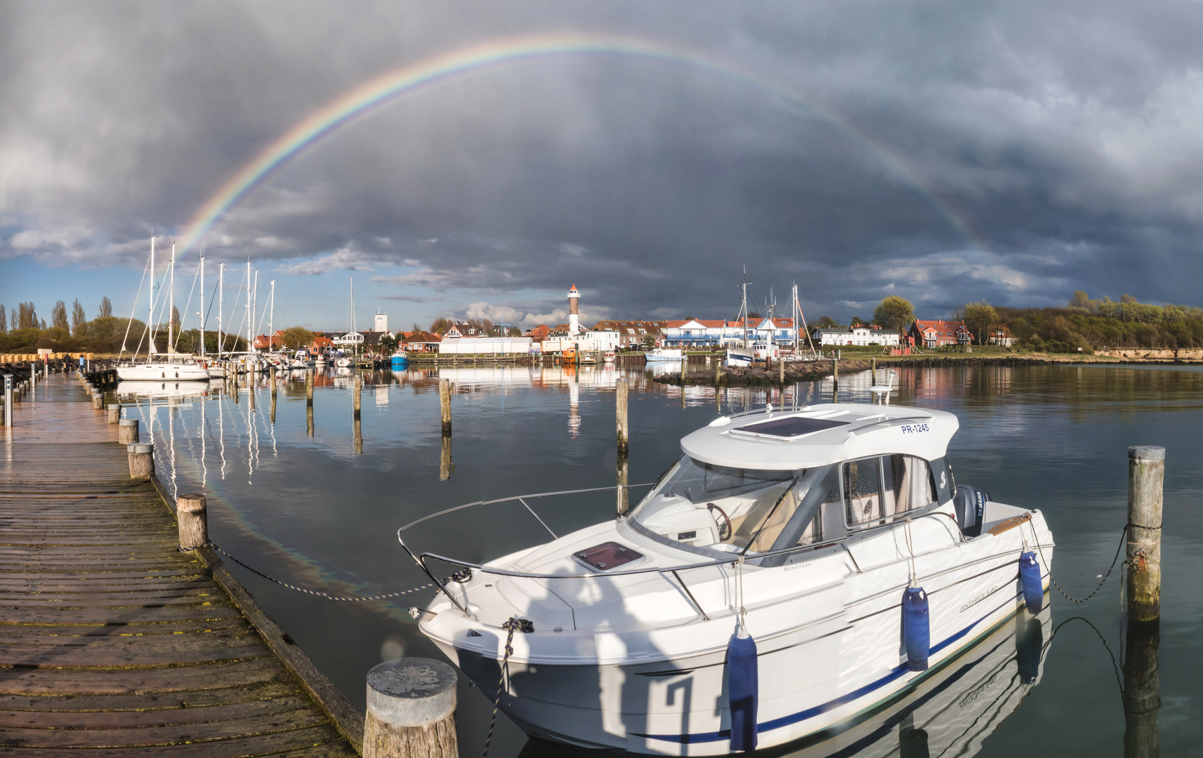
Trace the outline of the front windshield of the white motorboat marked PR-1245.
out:
<instances>
[{"instance_id":1,"label":"front windshield of the white motorboat marked PR-1245","mask_svg":"<svg viewBox=\"0 0 1203 758\"><path fill-rule=\"evenodd\" d=\"M838 503L835 466L728 468L682 456L630 521L670 543L751 553L816 543L823 511Z\"/></svg>"}]
</instances>

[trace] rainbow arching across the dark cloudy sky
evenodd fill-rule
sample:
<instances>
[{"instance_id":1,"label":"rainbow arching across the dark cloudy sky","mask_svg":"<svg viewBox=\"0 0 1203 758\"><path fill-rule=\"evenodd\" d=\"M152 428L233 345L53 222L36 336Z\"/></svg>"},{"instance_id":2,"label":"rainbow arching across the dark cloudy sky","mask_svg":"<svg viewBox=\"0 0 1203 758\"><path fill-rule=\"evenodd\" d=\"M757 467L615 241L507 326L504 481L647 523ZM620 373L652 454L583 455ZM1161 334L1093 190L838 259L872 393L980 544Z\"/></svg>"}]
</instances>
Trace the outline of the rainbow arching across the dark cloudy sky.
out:
<instances>
[{"instance_id":1,"label":"rainbow arching across the dark cloudy sky","mask_svg":"<svg viewBox=\"0 0 1203 758\"><path fill-rule=\"evenodd\" d=\"M553 32L512 36L479 42L426 58L372 78L334 97L294 124L255 158L231 176L196 211L180 238L179 255L186 255L213 225L248 193L265 184L292 158L352 120L395 102L398 97L490 67L565 55L617 55L653 59L700 69L774 94L814 113L876 154L899 177L978 250L985 245L970 225L953 212L919 174L896 153L828 108L814 105L788 85L705 52L628 36Z\"/></svg>"}]
</instances>

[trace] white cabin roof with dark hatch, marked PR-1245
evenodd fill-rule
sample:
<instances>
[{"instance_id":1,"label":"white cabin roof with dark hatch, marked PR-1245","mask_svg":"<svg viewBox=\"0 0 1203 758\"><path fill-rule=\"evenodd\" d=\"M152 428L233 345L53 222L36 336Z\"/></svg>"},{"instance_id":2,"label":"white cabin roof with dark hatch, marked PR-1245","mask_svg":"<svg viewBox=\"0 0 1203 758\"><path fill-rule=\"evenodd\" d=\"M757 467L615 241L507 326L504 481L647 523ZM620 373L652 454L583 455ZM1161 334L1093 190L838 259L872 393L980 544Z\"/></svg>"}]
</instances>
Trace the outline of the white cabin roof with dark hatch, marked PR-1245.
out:
<instances>
[{"instance_id":1,"label":"white cabin roof with dark hatch, marked PR-1245","mask_svg":"<svg viewBox=\"0 0 1203 758\"><path fill-rule=\"evenodd\" d=\"M822 403L721 416L686 436L681 450L703 463L746 469L813 468L903 450L935 461L959 426L944 410Z\"/></svg>"}]
</instances>

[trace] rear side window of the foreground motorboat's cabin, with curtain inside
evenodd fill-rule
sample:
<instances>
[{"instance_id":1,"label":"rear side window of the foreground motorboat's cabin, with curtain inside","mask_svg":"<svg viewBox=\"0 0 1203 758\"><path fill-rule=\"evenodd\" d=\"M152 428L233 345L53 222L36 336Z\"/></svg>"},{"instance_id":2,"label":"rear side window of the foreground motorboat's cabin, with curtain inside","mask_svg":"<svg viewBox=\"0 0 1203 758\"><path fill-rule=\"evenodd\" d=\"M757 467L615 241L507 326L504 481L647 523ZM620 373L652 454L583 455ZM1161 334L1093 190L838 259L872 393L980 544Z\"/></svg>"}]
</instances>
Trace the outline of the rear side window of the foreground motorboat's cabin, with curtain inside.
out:
<instances>
[{"instance_id":1,"label":"rear side window of the foreground motorboat's cabin, with curtain inside","mask_svg":"<svg viewBox=\"0 0 1203 758\"><path fill-rule=\"evenodd\" d=\"M843 464L843 504L849 527L884 523L936 502L931 466L911 455L887 455Z\"/></svg>"}]
</instances>

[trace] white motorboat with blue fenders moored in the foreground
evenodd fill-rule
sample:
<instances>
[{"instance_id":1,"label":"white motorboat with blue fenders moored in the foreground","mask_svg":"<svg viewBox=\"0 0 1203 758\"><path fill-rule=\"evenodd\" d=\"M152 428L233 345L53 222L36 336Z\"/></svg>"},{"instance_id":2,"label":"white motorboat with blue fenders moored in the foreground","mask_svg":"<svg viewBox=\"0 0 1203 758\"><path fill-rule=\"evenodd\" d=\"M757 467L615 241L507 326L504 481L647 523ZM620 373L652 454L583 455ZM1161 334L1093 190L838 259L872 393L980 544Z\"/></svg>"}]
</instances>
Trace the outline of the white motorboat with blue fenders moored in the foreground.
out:
<instances>
[{"instance_id":1,"label":"white motorboat with blue fenders moored in the foreground","mask_svg":"<svg viewBox=\"0 0 1203 758\"><path fill-rule=\"evenodd\" d=\"M1045 603L1043 514L956 487L956 428L897 405L718 418L617 520L485 564L404 541L470 507L402 527L440 587L411 612L531 735L709 756L832 729Z\"/></svg>"}]
</instances>

